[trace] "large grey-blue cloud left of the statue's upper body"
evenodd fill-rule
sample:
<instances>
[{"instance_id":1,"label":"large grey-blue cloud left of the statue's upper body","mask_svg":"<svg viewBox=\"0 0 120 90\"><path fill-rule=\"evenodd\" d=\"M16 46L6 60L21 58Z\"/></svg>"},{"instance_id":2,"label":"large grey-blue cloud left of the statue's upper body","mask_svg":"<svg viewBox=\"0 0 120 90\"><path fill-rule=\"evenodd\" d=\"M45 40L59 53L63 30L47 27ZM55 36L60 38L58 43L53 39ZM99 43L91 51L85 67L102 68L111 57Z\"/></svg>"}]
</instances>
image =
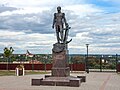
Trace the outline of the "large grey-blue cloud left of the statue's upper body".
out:
<instances>
[{"instance_id":1,"label":"large grey-blue cloud left of the statue's upper body","mask_svg":"<svg viewBox=\"0 0 120 90\"><path fill-rule=\"evenodd\" d=\"M48 16L45 16L45 15ZM52 33L52 16L50 11L44 11L37 14L15 14L10 16L1 16L0 28L13 30L31 30L39 33ZM48 27L50 29L48 29Z\"/></svg>"}]
</instances>

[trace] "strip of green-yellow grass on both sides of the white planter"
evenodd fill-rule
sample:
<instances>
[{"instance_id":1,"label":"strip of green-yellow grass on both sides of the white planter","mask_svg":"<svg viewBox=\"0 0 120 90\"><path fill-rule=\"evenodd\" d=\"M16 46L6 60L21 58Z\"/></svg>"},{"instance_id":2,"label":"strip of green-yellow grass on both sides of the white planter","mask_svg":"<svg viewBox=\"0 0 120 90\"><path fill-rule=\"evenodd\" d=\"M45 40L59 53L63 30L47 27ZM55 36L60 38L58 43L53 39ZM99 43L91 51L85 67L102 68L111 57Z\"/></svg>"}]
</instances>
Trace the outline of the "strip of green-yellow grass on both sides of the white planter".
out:
<instances>
[{"instance_id":1,"label":"strip of green-yellow grass on both sides of the white planter","mask_svg":"<svg viewBox=\"0 0 120 90\"><path fill-rule=\"evenodd\" d=\"M31 75L31 74L49 74L49 72L45 72L45 71L25 71L25 75ZM0 76L15 76L15 71L0 70Z\"/></svg>"}]
</instances>

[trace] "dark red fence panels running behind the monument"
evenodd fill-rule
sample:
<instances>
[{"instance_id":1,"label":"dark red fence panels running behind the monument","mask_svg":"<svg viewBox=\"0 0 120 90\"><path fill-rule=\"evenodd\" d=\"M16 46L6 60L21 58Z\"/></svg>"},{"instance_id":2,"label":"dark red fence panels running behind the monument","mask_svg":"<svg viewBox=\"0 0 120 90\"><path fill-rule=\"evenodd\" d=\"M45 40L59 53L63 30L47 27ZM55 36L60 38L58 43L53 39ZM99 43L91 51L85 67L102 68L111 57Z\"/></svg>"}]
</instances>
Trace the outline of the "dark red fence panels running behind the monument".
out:
<instances>
[{"instance_id":1,"label":"dark red fence panels running behind the monument","mask_svg":"<svg viewBox=\"0 0 120 90\"><path fill-rule=\"evenodd\" d=\"M20 64L0 64L0 70L15 70ZM51 70L52 64L24 64L25 70ZM85 71L85 64L69 64L70 70Z\"/></svg>"}]
</instances>

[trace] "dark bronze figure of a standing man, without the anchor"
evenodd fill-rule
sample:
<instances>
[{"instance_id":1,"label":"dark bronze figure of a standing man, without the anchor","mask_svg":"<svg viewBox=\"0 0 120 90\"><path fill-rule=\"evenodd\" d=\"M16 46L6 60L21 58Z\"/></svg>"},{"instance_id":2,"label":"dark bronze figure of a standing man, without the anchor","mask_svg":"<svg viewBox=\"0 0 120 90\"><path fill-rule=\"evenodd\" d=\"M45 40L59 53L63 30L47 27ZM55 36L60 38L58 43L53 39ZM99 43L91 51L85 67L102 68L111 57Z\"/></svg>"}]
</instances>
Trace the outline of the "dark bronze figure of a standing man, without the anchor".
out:
<instances>
[{"instance_id":1,"label":"dark bronze figure of a standing man, without the anchor","mask_svg":"<svg viewBox=\"0 0 120 90\"><path fill-rule=\"evenodd\" d=\"M64 24L67 25L65 13L61 12L61 7L57 7L57 13L54 13L54 19L53 19L53 25L52 28L56 29L56 36L57 36L57 42L60 43L60 41L63 43L64 40Z\"/></svg>"}]
</instances>

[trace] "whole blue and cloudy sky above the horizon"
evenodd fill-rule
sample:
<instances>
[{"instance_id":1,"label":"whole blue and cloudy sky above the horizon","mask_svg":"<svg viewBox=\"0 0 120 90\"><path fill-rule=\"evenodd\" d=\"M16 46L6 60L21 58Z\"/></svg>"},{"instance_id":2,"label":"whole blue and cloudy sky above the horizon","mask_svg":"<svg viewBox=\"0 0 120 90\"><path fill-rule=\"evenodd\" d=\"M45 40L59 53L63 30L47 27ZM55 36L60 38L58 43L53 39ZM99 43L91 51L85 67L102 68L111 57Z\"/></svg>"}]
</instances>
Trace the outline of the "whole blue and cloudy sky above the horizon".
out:
<instances>
[{"instance_id":1,"label":"whole blue and cloudy sky above the horizon","mask_svg":"<svg viewBox=\"0 0 120 90\"><path fill-rule=\"evenodd\" d=\"M56 7L65 13L70 54L120 54L120 0L0 0L0 53L51 54Z\"/></svg>"}]
</instances>

